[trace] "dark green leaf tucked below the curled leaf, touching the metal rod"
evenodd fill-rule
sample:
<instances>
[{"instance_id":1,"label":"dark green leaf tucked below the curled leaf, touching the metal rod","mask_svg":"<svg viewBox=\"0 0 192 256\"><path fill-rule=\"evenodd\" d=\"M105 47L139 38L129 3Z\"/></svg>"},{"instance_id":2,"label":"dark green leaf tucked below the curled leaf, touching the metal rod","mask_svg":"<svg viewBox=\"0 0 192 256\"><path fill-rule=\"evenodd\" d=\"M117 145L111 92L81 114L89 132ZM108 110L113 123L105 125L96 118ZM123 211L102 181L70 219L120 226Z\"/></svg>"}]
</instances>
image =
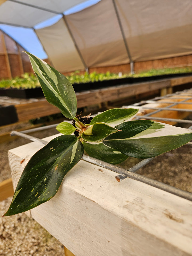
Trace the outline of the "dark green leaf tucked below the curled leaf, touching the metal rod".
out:
<instances>
[{"instance_id":1,"label":"dark green leaf tucked below the curled leaf, touching the metal rod","mask_svg":"<svg viewBox=\"0 0 192 256\"><path fill-rule=\"evenodd\" d=\"M90 157L97 158L113 165L121 163L128 158L127 155L124 155L111 147L107 147L102 142L83 142L83 147Z\"/></svg>"}]
</instances>

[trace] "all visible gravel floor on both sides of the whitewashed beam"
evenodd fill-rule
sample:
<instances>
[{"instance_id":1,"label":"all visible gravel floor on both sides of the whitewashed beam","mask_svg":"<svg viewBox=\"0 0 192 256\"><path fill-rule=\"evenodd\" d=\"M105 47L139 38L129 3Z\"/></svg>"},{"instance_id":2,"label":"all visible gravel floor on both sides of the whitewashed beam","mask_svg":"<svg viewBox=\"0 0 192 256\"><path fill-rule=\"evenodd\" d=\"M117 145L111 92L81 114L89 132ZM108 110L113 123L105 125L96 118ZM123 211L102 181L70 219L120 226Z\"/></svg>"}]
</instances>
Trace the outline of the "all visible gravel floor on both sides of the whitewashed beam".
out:
<instances>
[{"instance_id":1,"label":"all visible gravel floor on both sides of the whitewashed beam","mask_svg":"<svg viewBox=\"0 0 192 256\"><path fill-rule=\"evenodd\" d=\"M0 133L11 131L21 127L29 126L29 123L7 126L0 129ZM47 137L57 133L55 128L31 134L38 138ZM0 144L0 182L11 177L10 167L7 158L9 149L21 146L29 141L17 137L14 141ZM183 146L168 153L158 156L147 166L138 170L137 173L171 186L189 191L192 193L192 147ZM121 164L125 169L133 166L140 160L128 158ZM11 203L11 198L0 202L0 214L5 213ZM0 255L4 256L60 256L64 255L63 245L52 237L32 218L24 213L10 217L0 217Z\"/></svg>"}]
</instances>

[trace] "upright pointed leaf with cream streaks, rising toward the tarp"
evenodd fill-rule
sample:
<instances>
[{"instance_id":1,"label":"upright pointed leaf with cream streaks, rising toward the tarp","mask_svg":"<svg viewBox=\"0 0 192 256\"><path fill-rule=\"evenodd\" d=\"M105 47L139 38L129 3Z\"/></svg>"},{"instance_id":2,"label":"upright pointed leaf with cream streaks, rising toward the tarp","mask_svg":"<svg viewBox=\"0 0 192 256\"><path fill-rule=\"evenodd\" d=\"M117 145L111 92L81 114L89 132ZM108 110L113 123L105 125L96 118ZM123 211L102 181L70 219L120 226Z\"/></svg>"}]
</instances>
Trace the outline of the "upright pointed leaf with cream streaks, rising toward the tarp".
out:
<instances>
[{"instance_id":1,"label":"upright pointed leaf with cream streaks, rising toward the tarp","mask_svg":"<svg viewBox=\"0 0 192 256\"><path fill-rule=\"evenodd\" d=\"M70 81L45 61L31 53L27 54L46 100L58 107L65 117L73 119L77 111L77 99Z\"/></svg>"}]
</instances>

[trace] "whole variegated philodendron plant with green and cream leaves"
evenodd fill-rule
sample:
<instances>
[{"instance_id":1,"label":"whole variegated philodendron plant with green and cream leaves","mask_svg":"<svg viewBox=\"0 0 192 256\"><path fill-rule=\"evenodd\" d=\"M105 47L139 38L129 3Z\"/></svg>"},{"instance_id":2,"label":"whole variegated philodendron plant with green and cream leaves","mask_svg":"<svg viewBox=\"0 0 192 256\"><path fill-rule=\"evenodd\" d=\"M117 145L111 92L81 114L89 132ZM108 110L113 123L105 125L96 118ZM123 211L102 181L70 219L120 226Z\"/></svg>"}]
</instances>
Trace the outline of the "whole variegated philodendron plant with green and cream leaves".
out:
<instances>
[{"instance_id":1,"label":"whole variegated philodendron plant with green and cream leaves","mask_svg":"<svg viewBox=\"0 0 192 256\"><path fill-rule=\"evenodd\" d=\"M29 160L4 216L30 210L51 199L84 150L91 157L118 164L129 156L160 155L192 139L188 129L150 120L130 121L138 109L110 109L96 115L90 123L81 122L76 117L77 99L71 83L46 62L27 54L47 101L73 119L75 125L59 124L57 130L63 135L51 140Z\"/></svg>"}]
</instances>

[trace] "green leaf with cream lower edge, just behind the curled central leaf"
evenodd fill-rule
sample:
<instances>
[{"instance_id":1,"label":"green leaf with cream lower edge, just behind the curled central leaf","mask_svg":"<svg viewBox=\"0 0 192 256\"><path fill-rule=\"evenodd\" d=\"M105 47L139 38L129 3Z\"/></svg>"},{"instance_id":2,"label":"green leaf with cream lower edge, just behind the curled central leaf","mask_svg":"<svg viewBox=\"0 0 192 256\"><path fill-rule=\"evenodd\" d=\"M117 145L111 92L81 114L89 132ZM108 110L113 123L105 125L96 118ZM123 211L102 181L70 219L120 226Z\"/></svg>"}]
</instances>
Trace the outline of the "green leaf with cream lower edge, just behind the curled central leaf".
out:
<instances>
[{"instance_id":1,"label":"green leaf with cream lower edge, just behind the curled central leaf","mask_svg":"<svg viewBox=\"0 0 192 256\"><path fill-rule=\"evenodd\" d=\"M104 122L110 126L116 126L120 123L127 122L137 114L138 109L109 109L101 114L96 115L90 125L97 122Z\"/></svg>"}]
</instances>

